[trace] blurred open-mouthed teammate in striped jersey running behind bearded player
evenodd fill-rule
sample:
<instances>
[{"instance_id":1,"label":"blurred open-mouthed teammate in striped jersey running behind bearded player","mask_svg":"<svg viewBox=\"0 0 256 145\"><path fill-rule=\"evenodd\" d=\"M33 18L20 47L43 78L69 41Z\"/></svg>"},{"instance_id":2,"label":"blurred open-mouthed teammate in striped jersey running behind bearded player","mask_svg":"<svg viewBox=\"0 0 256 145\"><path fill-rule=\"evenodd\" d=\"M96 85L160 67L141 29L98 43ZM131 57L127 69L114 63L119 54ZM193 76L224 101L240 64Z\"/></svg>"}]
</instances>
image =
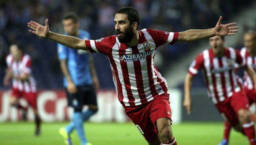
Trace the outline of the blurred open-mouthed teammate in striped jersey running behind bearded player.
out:
<instances>
[{"instance_id":1,"label":"blurred open-mouthed teammate in striped jersey running behind bearded player","mask_svg":"<svg viewBox=\"0 0 256 145\"><path fill-rule=\"evenodd\" d=\"M224 47L224 37L215 36L209 40L211 48L195 58L185 77L184 106L190 114L192 80L198 71L203 69L208 96L218 111L236 131L248 137L251 145L256 145L254 123L249 117L249 102L242 83L235 74L235 64L243 65L243 58L238 50ZM245 65L244 69L253 82L256 82L253 69L248 65ZM256 87L253 89L256 90Z\"/></svg>"}]
</instances>

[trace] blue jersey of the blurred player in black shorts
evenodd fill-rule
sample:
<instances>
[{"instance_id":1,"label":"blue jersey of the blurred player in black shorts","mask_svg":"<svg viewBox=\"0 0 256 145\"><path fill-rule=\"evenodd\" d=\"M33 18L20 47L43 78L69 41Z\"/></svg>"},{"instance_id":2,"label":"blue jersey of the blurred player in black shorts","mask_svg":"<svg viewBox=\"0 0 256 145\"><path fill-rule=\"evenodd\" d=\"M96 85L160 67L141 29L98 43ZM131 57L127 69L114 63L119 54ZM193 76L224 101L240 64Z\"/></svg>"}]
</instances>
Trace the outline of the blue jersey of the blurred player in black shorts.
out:
<instances>
[{"instance_id":1,"label":"blue jersey of the blurred player in black shorts","mask_svg":"<svg viewBox=\"0 0 256 145\"><path fill-rule=\"evenodd\" d=\"M67 35L67 34L65 34ZM90 39L87 31L79 30L80 39ZM92 74L90 72L89 52L75 50L61 44L57 44L59 60L67 60L67 68L75 85L91 85ZM64 87L67 87L67 79L64 77Z\"/></svg>"}]
</instances>

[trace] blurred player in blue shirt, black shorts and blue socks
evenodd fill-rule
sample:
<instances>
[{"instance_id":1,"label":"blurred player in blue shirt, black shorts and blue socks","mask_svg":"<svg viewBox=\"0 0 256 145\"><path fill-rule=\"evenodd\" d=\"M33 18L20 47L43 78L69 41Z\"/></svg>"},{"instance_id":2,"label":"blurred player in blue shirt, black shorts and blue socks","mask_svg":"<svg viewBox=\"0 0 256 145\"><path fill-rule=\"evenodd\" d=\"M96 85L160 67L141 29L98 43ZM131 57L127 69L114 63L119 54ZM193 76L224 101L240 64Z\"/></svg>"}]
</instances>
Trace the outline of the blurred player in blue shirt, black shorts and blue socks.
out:
<instances>
[{"instance_id":1,"label":"blurred player in blue shirt, black shorts and blue socks","mask_svg":"<svg viewBox=\"0 0 256 145\"><path fill-rule=\"evenodd\" d=\"M75 13L67 13L62 24L65 35L90 39L87 31L79 30L78 16ZM85 138L83 122L98 110L95 89L99 85L92 56L84 50L74 50L61 44L57 44L57 47L68 106L74 108L72 122L59 129L59 133L66 145L72 145L70 134L76 129L81 145L91 145ZM82 111L84 105L88 105L88 109Z\"/></svg>"}]
</instances>

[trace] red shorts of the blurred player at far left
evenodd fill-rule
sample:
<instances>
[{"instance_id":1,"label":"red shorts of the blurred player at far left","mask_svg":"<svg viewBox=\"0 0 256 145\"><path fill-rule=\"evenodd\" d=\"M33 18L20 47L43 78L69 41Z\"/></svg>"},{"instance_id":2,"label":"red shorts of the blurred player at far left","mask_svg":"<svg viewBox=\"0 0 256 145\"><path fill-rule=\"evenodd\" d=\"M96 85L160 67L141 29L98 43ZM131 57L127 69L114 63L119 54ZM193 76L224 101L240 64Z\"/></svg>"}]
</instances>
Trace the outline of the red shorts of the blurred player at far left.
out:
<instances>
[{"instance_id":1,"label":"red shorts of the blurred player at far left","mask_svg":"<svg viewBox=\"0 0 256 145\"><path fill-rule=\"evenodd\" d=\"M24 91L20 91L18 89L12 88L11 89L11 97L16 97L16 98L25 98L25 100L28 102L28 104L34 109L37 110L37 105L36 105L36 98L37 98L37 93L36 92L29 92L26 93Z\"/></svg>"}]
</instances>

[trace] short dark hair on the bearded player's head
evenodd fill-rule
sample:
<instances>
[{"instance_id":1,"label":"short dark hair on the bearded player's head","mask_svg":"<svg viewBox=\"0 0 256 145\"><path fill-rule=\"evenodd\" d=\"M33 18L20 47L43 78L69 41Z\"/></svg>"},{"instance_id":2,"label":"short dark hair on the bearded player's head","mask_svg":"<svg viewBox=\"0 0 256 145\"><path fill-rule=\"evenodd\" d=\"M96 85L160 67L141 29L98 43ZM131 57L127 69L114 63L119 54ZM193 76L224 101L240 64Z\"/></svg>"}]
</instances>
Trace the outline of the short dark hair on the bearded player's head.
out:
<instances>
[{"instance_id":1,"label":"short dark hair on the bearded player's head","mask_svg":"<svg viewBox=\"0 0 256 145\"><path fill-rule=\"evenodd\" d=\"M130 24L133 24L134 22L136 22L138 24L137 30L139 30L139 21L140 21L139 13L135 8L126 6L126 7L120 8L117 11L117 14L126 14L127 19L130 21Z\"/></svg>"}]
</instances>

